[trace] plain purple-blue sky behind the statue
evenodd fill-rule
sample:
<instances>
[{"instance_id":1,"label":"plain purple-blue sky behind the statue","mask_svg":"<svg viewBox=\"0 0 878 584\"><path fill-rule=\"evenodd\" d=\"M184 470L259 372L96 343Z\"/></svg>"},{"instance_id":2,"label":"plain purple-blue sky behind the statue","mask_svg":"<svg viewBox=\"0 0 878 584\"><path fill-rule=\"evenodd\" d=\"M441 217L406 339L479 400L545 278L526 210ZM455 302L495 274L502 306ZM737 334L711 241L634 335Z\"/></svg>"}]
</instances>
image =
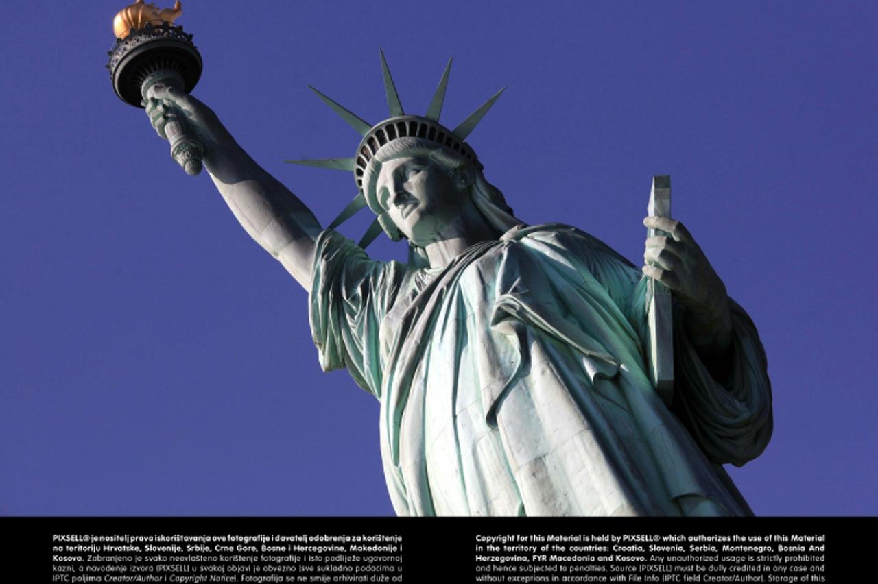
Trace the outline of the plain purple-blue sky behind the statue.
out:
<instances>
[{"instance_id":1,"label":"plain purple-blue sky behind the statue","mask_svg":"<svg viewBox=\"0 0 878 584\"><path fill-rule=\"evenodd\" d=\"M320 372L306 293L114 95L122 6L4 8L0 514L392 514L378 403ZM759 515L878 514L875 4L439 6L189 0L178 22L194 94L323 224L352 178L281 160L356 147L307 83L387 117L379 46L414 113L454 55L452 127L507 87L469 142L531 224L637 262L671 174L768 355L774 438L733 479Z\"/></svg>"}]
</instances>

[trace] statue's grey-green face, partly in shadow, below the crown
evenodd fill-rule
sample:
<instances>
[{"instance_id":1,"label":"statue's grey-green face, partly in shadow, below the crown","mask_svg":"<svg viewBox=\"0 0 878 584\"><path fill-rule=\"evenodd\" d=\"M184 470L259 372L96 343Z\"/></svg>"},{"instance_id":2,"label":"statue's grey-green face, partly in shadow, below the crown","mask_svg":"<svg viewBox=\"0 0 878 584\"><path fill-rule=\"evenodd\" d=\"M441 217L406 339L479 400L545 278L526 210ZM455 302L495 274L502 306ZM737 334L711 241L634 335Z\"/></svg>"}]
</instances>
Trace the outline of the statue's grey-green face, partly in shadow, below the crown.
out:
<instances>
[{"instance_id":1,"label":"statue's grey-green face, partly in shadow, below the crown","mask_svg":"<svg viewBox=\"0 0 878 584\"><path fill-rule=\"evenodd\" d=\"M453 176L425 158L385 162L376 192L399 231L420 247L442 239L443 228L463 212L466 197Z\"/></svg>"}]
</instances>

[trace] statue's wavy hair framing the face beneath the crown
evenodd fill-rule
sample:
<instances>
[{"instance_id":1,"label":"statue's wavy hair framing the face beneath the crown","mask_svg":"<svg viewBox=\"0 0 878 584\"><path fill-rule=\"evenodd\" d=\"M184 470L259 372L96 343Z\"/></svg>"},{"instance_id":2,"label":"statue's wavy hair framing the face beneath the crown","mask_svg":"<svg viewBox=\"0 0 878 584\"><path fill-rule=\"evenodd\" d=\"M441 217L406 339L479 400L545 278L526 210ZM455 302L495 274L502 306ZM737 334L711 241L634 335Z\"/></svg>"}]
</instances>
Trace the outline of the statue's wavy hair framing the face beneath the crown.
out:
<instances>
[{"instance_id":1,"label":"statue's wavy hair framing the face beneath the crown","mask_svg":"<svg viewBox=\"0 0 878 584\"><path fill-rule=\"evenodd\" d=\"M378 192L376 190L378 183L378 174L381 173L381 167L384 162L399 158L424 158L435 162L448 174L456 174L459 171L468 170L473 175L473 182L470 186L470 196L476 208L485 216L486 221L499 234L505 233L509 229L515 227L516 224L522 224L512 214L512 209L507 205L506 199L500 189L497 189L490 182L487 182L485 175L482 174L482 165L478 161L468 160L460 153L450 148L438 144L432 140L420 138L398 138L392 140L382 146L375 156L372 157L369 167L363 174L363 195L369 208L378 215L378 223L387 234L387 237L393 241L399 241L403 235L399 231L392 218L378 203ZM426 256L423 250L414 246L409 242L416 263L423 264Z\"/></svg>"}]
</instances>

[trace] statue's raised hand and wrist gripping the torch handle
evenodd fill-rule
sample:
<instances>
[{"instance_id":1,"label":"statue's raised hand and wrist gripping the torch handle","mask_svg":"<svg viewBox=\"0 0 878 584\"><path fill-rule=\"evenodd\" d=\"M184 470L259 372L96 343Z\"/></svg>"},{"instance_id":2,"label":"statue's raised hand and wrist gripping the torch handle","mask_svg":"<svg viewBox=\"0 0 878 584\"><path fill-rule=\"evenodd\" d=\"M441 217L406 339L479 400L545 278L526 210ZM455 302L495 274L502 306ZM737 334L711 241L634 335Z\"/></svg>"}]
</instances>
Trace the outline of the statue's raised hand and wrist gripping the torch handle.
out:
<instances>
[{"instance_id":1,"label":"statue's raised hand and wrist gripping the torch handle","mask_svg":"<svg viewBox=\"0 0 878 584\"><path fill-rule=\"evenodd\" d=\"M205 151L214 146L231 142L232 137L219 122L217 115L209 107L193 96L167 85L156 84L152 87L146 101L149 121L163 139L167 139L164 126L168 121L167 114L171 108L182 113L192 129L198 133Z\"/></svg>"}]
</instances>

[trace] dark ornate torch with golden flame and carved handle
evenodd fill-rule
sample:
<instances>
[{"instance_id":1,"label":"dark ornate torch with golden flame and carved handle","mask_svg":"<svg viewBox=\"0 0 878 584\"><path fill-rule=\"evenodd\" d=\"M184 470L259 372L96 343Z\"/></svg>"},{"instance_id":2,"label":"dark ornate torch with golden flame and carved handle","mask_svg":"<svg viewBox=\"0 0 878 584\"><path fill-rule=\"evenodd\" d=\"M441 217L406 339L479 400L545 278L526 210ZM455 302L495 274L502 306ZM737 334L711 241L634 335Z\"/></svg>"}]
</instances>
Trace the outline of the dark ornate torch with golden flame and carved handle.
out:
<instances>
[{"instance_id":1,"label":"dark ornate torch with golden flame and carved handle","mask_svg":"<svg viewBox=\"0 0 878 584\"><path fill-rule=\"evenodd\" d=\"M134 107L146 107L156 85L191 92L201 77L201 55L192 35L183 26L172 25L183 9L179 2L161 11L155 4L137 0L113 19L116 42L112 46L110 69L116 95ZM201 172L204 147L192 131L183 111L171 107L164 114L164 132L170 142L171 158L186 174Z\"/></svg>"}]
</instances>

